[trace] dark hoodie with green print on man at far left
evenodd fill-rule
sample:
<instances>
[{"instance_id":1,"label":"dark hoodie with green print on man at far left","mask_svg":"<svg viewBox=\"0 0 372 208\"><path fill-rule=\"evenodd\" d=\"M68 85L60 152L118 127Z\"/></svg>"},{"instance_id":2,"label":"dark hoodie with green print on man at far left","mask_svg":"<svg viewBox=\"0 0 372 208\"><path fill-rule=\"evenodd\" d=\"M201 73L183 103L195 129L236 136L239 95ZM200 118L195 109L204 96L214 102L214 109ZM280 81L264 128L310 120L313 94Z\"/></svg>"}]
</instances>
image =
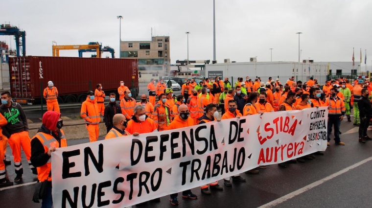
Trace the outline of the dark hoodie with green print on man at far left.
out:
<instances>
[{"instance_id":1,"label":"dark hoodie with green print on man at far left","mask_svg":"<svg viewBox=\"0 0 372 208\"><path fill-rule=\"evenodd\" d=\"M22 106L19 103L11 102L12 105L9 108L3 104L0 106L0 113L8 121L8 124L1 127L2 134L7 138L10 138L14 133L28 132L27 118Z\"/></svg>"}]
</instances>

